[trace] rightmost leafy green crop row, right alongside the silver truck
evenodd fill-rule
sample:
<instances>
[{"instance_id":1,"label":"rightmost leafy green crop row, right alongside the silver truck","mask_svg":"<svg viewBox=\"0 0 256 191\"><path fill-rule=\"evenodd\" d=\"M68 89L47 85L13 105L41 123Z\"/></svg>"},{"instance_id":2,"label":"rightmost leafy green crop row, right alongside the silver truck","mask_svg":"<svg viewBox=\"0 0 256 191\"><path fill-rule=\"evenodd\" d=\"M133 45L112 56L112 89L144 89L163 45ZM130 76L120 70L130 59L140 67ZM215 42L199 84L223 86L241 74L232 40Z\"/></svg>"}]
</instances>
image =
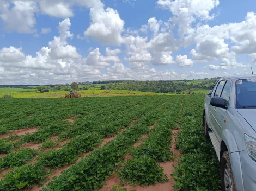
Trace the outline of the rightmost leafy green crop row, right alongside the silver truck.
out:
<instances>
[{"instance_id":1,"label":"rightmost leafy green crop row, right alongside the silver truck","mask_svg":"<svg viewBox=\"0 0 256 191\"><path fill-rule=\"evenodd\" d=\"M215 151L203 137L203 97L193 95L183 100L180 115L181 132L177 148L184 153L172 176L176 190L220 190L220 169Z\"/></svg>"}]
</instances>

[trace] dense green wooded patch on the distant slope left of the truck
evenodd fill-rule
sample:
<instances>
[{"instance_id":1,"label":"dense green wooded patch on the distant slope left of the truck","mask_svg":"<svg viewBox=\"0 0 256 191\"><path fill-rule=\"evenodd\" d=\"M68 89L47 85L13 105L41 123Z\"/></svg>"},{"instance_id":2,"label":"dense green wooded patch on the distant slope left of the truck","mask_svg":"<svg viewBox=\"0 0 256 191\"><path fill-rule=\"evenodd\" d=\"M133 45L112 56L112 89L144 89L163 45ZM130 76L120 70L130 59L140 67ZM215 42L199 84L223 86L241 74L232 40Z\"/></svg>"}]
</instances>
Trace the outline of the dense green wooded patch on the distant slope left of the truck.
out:
<instances>
[{"instance_id":1,"label":"dense green wooded patch on the distant slope left of the truck","mask_svg":"<svg viewBox=\"0 0 256 191\"><path fill-rule=\"evenodd\" d=\"M168 93L168 92L181 92L189 91L192 88L210 89L216 79L203 81L200 83L192 83L185 81L123 81L119 83L104 84L101 86L101 90L131 90L131 91L143 91L143 92L156 92L156 93ZM102 83L103 84L103 83Z\"/></svg>"}]
</instances>

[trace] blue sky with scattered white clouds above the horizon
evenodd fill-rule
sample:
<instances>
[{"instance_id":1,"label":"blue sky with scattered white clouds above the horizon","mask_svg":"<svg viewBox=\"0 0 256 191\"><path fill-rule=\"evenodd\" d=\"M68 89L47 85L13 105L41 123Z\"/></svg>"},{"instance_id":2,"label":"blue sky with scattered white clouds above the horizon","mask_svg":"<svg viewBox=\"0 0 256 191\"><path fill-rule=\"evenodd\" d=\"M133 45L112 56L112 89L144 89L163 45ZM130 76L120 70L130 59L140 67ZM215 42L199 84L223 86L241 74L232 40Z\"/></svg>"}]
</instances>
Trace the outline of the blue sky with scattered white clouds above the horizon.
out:
<instances>
[{"instance_id":1,"label":"blue sky with scattered white clouds above the horizon","mask_svg":"<svg viewBox=\"0 0 256 191\"><path fill-rule=\"evenodd\" d=\"M0 84L256 73L253 0L0 0Z\"/></svg>"}]
</instances>

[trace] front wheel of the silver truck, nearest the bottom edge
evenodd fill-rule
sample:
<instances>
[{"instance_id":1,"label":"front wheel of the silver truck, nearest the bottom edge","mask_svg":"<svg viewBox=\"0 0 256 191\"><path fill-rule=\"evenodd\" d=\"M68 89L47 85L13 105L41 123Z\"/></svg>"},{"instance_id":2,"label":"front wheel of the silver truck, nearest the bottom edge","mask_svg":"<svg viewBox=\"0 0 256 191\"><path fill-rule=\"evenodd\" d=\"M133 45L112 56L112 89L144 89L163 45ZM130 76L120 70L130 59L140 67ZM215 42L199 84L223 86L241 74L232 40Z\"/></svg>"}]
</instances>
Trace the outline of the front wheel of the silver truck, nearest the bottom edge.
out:
<instances>
[{"instance_id":1,"label":"front wheel of the silver truck, nearest the bottom edge","mask_svg":"<svg viewBox=\"0 0 256 191\"><path fill-rule=\"evenodd\" d=\"M225 151L221 158L221 187L222 191L235 191L235 181L228 151Z\"/></svg>"}]
</instances>

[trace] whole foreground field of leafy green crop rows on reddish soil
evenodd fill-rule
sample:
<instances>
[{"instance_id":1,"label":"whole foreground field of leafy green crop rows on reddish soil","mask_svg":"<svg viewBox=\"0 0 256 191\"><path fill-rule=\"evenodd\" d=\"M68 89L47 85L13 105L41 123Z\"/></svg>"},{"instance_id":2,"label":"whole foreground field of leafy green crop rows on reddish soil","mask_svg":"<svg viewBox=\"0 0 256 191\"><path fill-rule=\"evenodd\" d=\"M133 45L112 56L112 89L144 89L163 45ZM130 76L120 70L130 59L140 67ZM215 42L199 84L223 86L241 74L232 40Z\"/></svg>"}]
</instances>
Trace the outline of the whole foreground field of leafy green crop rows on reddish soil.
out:
<instances>
[{"instance_id":1,"label":"whole foreground field of leafy green crop rows on reddish soil","mask_svg":"<svg viewBox=\"0 0 256 191\"><path fill-rule=\"evenodd\" d=\"M203 101L0 99L0 190L220 190Z\"/></svg>"}]
</instances>

